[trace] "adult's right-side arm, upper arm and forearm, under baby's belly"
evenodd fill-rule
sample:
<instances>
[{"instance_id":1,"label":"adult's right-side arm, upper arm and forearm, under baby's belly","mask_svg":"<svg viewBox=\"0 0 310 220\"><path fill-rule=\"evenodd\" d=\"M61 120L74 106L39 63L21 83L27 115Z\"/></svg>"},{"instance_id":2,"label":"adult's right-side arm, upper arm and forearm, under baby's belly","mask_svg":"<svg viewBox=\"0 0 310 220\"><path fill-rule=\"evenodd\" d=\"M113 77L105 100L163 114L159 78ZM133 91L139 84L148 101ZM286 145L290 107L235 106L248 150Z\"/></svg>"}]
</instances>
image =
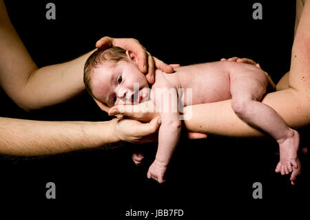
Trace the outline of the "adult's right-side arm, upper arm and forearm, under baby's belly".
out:
<instances>
[{"instance_id":1,"label":"adult's right-side arm, upper arm and forearm, under baby's belly","mask_svg":"<svg viewBox=\"0 0 310 220\"><path fill-rule=\"evenodd\" d=\"M262 102L276 110L292 128L300 128L310 123L310 1L304 5L293 43L289 88L267 94ZM263 135L236 117L231 110L230 100L192 108L192 119L184 121L189 131L237 137Z\"/></svg>"}]
</instances>

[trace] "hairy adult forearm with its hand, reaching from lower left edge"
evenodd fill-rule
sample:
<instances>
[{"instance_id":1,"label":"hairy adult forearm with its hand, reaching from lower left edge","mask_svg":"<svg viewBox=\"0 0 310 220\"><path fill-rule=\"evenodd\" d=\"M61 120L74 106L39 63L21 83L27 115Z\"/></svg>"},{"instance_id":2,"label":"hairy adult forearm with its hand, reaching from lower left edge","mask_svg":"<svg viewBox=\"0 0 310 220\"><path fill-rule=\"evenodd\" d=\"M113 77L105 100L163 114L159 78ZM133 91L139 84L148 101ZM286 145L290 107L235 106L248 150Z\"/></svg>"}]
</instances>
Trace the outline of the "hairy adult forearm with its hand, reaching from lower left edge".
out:
<instances>
[{"instance_id":1,"label":"hairy adult forearm with its hand, reaching from lower left edge","mask_svg":"<svg viewBox=\"0 0 310 220\"><path fill-rule=\"evenodd\" d=\"M0 117L0 154L35 156L153 141L159 117L150 123L130 119L104 122L30 121Z\"/></svg>"}]
</instances>

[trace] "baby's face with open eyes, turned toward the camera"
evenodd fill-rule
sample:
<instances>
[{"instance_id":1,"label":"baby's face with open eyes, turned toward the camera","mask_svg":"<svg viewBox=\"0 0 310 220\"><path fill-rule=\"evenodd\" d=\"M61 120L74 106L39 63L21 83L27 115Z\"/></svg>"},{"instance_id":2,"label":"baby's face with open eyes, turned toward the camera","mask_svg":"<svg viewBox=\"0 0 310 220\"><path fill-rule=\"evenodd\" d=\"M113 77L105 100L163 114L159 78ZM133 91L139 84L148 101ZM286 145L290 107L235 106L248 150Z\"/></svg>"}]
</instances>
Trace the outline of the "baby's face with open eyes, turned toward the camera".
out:
<instances>
[{"instance_id":1,"label":"baby's face with open eyes, turned toward the camera","mask_svg":"<svg viewBox=\"0 0 310 220\"><path fill-rule=\"evenodd\" d=\"M91 83L94 98L109 107L140 103L149 95L145 92L149 88L145 75L134 61L119 61L116 66L104 63L94 68Z\"/></svg>"}]
</instances>

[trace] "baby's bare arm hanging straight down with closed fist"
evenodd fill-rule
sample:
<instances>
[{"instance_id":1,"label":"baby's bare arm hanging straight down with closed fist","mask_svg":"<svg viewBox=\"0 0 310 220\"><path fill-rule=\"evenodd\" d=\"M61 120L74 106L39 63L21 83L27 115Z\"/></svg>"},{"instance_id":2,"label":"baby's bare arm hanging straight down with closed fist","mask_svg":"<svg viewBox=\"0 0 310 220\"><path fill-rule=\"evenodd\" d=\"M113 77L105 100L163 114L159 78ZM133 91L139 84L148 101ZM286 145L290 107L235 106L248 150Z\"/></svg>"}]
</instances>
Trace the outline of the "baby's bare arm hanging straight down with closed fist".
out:
<instances>
[{"instance_id":1,"label":"baby's bare arm hanging straight down with closed fist","mask_svg":"<svg viewBox=\"0 0 310 220\"><path fill-rule=\"evenodd\" d=\"M158 183L163 183L165 171L180 138L181 123L176 89L158 89L157 92L154 92L156 94L154 103L160 111L161 127L158 132L156 159L149 167L147 177L158 181ZM169 102L166 102L168 100Z\"/></svg>"}]
</instances>

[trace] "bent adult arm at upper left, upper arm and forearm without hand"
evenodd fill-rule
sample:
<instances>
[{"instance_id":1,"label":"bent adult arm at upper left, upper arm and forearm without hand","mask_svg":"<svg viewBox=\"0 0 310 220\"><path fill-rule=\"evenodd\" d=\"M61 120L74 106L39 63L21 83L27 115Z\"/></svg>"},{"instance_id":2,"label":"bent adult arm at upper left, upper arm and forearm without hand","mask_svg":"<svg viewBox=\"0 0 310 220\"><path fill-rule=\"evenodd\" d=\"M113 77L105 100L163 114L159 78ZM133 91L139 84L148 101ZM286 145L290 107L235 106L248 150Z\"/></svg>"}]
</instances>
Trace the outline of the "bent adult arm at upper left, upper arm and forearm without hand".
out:
<instances>
[{"instance_id":1,"label":"bent adult arm at upper left, upper arm and forearm without hand","mask_svg":"<svg viewBox=\"0 0 310 220\"><path fill-rule=\"evenodd\" d=\"M70 62L38 69L12 26L3 1L0 39L0 84L21 108L50 106L84 90L83 66L91 52Z\"/></svg>"}]
</instances>

